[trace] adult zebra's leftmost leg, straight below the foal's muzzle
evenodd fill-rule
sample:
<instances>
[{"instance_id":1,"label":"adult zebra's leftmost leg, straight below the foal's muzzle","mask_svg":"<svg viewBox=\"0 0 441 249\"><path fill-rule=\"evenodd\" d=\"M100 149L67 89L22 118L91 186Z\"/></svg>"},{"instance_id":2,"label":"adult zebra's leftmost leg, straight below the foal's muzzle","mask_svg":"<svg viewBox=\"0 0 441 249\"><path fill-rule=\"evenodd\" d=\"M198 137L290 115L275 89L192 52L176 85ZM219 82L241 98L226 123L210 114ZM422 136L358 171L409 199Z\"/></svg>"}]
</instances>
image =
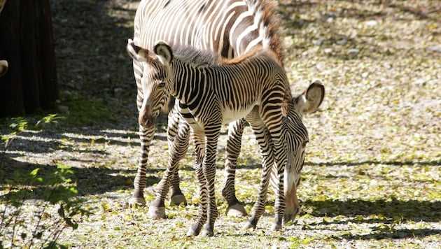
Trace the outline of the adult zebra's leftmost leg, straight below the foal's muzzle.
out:
<instances>
[{"instance_id":1,"label":"adult zebra's leftmost leg, straight below the foal's muzzle","mask_svg":"<svg viewBox=\"0 0 441 249\"><path fill-rule=\"evenodd\" d=\"M147 185L146 171L148 152L150 144L155 135L155 126L144 128L139 126L139 140L141 141L141 156L139 158L137 176L134 179L134 192L132 198L129 200L130 206L145 206L146 199L144 199L144 188Z\"/></svg>"}]
</instances>

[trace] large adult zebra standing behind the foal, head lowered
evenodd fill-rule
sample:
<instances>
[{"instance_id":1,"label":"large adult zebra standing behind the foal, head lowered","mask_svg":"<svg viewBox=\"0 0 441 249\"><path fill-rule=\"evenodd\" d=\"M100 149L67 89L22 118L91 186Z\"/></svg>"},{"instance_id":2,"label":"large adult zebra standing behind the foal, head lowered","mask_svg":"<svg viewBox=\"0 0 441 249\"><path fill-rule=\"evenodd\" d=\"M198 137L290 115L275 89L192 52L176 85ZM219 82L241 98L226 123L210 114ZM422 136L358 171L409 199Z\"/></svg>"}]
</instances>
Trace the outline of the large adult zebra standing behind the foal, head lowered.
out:
<instances>
[{"instance_id":1,"label":"large adult zebra standing behind the foal, head lowered","mask_svg":"<svg viewBox=\"0 0 441 249\"><path fill-rule=\"evenodd\" d=\"M279 62L283 62L281 41L277 34L279 30L277 15L274 15L273 8L274 2L272 1L145 0L139 4L134 20L134 41L141 47L150 50L158 40L167 41L171 45L192 45L195 48L216 51L218 55L225 58L236 57L256 45L263 45L276 54ZM142 87L143 71L143 65L134 60L134 75L138 87L137 106L140 113L141 158L137 176L134 180L134 194L130 200L132 204L145 204L143 190L146 186L148 151L155 132L154 120L160 112L159 108L153 110L145 108L146 106L156 106L154 103L158 99L144 98L144 96L152 93L146 92ZM311 104L313 108L306 108L303 112L299 112L300 115L292 117L293 120L300 120L300 122L297 122L299 127L293 129L293 134L296 134L298 130L306 131L301 122L302 113L315 111L318 108L323 99L323 91L319 92L318 95L321 94L321 96L314 99L315 102L313 101L314 103ZM152 94L152 96L155 96L155 94ZM189 127L186 122L180 121L178 112L172 111L172 113L174 113L174 116L169 119L168 129L169 148L171 148L169 164L177 164L179 159L186 153ZM146 126L141 125L141 123ZM236 210L239 213L246 213L235 197L234 185L235 166L241 146L243 127L243 120L230 125L227 145L228 155L225 164L228 177L223 188L223 196L228 201L228 211ZM284 187L287 203L285 221L294 218L299 207L295 192L300 180L299 173L304 158L304 146L302 144L307 142L300 139L300 134L304 134L304 132L297 134L297 139L295 139L295 141L298 141L297 147L290 148L292 152L295 152L295 156L290 158L293 162L293 171L287 173L286 178L288 180L285 184L286 187ZM258 136L258 141L264 141L268 135L266 131L262 131L256 136ZM264 148L264 154L268 153L265 151L265 145L260 147ZM297 151L299 148L300 151ZM174 169L170 166L168 168ZM162 180L158 184L158 196L151 204L151 215L154 218L165 216L164 199L169 186L172 188L172 199L181 197L181 200L185 201L185 199L182 199L181 190L179 190L177 171L172 173L174 177L169 178L168 182ZM262 205L262 194L259 194L259 198L256 205Z\"/></svg>"}]
</instances>

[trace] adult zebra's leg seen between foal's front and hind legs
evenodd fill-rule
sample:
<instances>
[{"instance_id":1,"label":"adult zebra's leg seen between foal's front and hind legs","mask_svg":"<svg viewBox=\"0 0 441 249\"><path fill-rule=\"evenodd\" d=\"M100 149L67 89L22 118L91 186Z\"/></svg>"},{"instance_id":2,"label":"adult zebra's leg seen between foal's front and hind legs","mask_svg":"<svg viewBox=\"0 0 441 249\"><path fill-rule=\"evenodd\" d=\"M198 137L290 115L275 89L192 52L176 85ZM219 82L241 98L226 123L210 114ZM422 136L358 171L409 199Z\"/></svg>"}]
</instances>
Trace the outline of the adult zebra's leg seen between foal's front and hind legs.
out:
<instances>
[{"instance_id":1,"label":"adult zebra's leg seen between foal's front and hind legs","mask_svg":"<svg viewBox=\"0 0 441 249\"><path fill-rule=\"evenodd\" d=\"M246 210L236 197L235 174L237 157L241 149L242 134L244 133L245 120L231 122L228 128L227 155L225 158L225 183L223 185L222 196L228 202L226 215L246 216Z\"/></svg>"}]
</instances>

